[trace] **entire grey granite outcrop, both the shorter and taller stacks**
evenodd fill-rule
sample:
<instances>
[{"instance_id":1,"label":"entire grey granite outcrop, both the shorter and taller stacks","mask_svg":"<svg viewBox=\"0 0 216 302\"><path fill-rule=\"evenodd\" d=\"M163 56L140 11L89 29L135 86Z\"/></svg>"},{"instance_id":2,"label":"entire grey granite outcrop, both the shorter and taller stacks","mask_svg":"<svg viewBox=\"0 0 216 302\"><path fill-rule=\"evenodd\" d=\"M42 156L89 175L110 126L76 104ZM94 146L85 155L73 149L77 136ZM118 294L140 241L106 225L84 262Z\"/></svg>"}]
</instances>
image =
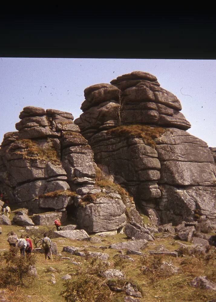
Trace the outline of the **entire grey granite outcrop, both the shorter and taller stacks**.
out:
<instances>
[{"instance_id":1,"label":"entire grey granite outcrop, both the shorter and taller stacks","mask_svg":"<svg viewBox=\"0 0 216 302\"><path fill-rule=\"evenodd\" d=\"M75 121L68 112L30 106L18 131L5 134L0 189L10 203L28 208L36 225L72 216L78 229L126 226L134 239L153 240L154 230L146 233L133 198L154 224L214 220L216 148L186 131L191 125L175 95L136 71L90 86L84 96Z\"/></svg>"}]
</instances>

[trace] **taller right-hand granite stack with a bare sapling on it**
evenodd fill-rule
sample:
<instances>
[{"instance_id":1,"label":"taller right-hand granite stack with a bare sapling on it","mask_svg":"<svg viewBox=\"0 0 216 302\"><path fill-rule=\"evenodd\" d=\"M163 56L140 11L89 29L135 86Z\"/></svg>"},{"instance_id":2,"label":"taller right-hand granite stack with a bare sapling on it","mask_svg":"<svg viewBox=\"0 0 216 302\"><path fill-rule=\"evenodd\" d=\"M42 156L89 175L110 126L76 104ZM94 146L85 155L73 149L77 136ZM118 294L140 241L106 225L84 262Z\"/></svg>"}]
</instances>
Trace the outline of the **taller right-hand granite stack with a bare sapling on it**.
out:
<instances>
[{"instance_id":1,"label":"taller right-hand granite stack with a bare sapling on it","mask_svg":"<svg viewBox=\"0 0 216 302\"><path fill-rule=\"evenodd\" d=\"M96 163L108 167L154 222L215 217L215 150L186 132L191 125L178 98L146 72L110 83L84 90L83 114L74 121Z\"/></svg>"}]
</instances>

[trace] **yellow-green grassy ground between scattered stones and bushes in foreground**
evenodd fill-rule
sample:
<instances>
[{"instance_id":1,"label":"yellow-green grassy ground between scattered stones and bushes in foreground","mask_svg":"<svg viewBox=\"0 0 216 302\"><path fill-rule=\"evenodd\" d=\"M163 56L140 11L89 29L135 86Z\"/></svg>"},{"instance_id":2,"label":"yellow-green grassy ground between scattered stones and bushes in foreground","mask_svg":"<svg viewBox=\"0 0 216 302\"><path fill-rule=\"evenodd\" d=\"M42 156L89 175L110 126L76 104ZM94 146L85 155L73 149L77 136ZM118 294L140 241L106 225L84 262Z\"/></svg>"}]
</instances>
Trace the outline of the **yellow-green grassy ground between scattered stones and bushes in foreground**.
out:
<instances>
[{"instance_id":1,"label":"yellow-green grassy ground between scattered stones and bushes in foreground","mask_svg":"<svg viewBox=\"0 0 216 302\"><path fill-rule=\"evenodd\" d=\"M2 235L0 235L1 249L8 249L7 233L11 230L15 230L18 236L21 235L19 230L24 228L20 226L1 226ZM54 227L52 227L54 229ZM58 252L62 251L63 246L85 246L90 251L101 251L99 249L100 245L109 246L111 243L124 241L126 240L125 234L118 234L113 237L105 237L102 239L102 243L90 243L87 241L72 241L71 239L57 238L53 239L53 242L57 243ZM171 236L168 238L157 238L153 243L149 243L148 247L143 252L147 252L150 249L155 249L159 244L164 245L169 250L175 250L179 247L179 244ZM94 248L93 246L96 246ZM118 252L113 249L105 249L104 252L110 255L109 261L113 262L113 256ZM73 258L74 261L84 262L85 260L82 257L74 256L62 252L63 256L69 256ZM215 297L215 292L210 290L202 290L197 288L192 288L189 284L190 281L200 275L207 275L210 279L216 282L216 269L215 269L215 260L210 261L206 265L203 261L198 260L193 257L186 258L173 258L173 257L163 257L163 261L172 261L172 263L181 268L181 272L178 275L174 275L169 278L159 279L158 281L151 282L149 276L142 275L140 271L140 256L131 255L135 262L126 262L126 267L124 271L126 272L126 279L135 282L142 289L142 301L145 302L189 302L189 301L208 301ZM150 256L152 257L152 256ZM182 260L185 259L185 265L181 265ZM51 284L51 274L47 273L46 270L52 266L57 269L58 273L55 273L56 284ZM112 266L111 266L112 267ZM59 293L64 288L64 281L61 277L67 273L74 273L77 268L76 265L73 265L68 260L62 260L59 256L53 256L53 262L45 261L44 255L37 254L37 263L36 268L38 271L38 279L35 279L30 287L17 288L16 292L6 291L6 297L8 301L28 301L31 302L64 302L65 300L59 296ZM73 277L72 277L73 278ZM31 298L27 296L30 295ZM116 301L123 301L125 294L115 294ZM121 298L122 297L122 298Z\"/></svg>"}]
</instances>

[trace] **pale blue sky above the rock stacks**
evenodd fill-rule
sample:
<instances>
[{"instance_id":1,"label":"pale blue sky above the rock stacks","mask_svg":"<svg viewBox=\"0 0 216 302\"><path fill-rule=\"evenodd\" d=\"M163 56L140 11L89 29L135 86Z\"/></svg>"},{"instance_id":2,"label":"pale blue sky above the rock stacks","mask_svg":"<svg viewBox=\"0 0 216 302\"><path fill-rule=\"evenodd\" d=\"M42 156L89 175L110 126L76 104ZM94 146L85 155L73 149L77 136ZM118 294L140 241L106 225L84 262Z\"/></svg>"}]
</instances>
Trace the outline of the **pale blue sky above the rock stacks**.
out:
<instances>
[{"instance_id":1,"label":"pale blue sky above the rock stacks","mask_svg":"<svg viewBox=\"0 0 216 302\"><path fill-rule=\"evenodd\" d=\"M0 58L0 140L25 106L80 116L83 90L132 71L157 77L181 101L188 132L216 147L216 60Z\"/></svg>"}]
</instances>

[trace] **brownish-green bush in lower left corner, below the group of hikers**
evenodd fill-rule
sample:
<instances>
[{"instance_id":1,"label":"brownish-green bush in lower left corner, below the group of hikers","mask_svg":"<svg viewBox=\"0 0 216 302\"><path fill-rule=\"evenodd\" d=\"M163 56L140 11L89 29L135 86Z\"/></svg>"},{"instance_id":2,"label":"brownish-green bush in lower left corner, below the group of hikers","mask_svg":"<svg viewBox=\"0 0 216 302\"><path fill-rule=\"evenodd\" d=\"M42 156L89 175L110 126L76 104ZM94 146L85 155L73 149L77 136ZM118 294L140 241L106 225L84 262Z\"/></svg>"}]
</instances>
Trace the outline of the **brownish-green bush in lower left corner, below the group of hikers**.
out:
<instances>
[{"instance_id":1,"label":"brownish-green bush in lower left corner, below the group of hikers","mask_svg":"<svg viewBox=\"0 0 216 302\"><path fill-rule=\"evenodd\" d=\"M34 255L23 257L19 255L19 248L11 248L0 256L0 262L1 288L8 287L13 289L14 286L22 286L25 282L31 282L31 277L29 277L28 273L36 262Z\"/></svg>"}]
</instances>

